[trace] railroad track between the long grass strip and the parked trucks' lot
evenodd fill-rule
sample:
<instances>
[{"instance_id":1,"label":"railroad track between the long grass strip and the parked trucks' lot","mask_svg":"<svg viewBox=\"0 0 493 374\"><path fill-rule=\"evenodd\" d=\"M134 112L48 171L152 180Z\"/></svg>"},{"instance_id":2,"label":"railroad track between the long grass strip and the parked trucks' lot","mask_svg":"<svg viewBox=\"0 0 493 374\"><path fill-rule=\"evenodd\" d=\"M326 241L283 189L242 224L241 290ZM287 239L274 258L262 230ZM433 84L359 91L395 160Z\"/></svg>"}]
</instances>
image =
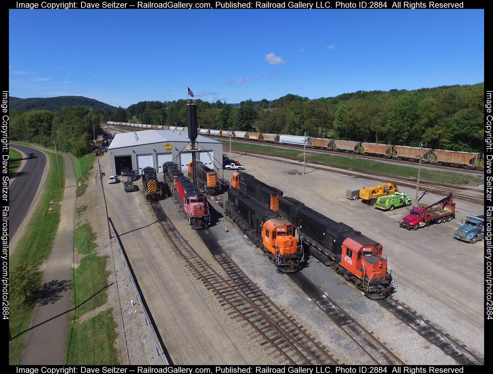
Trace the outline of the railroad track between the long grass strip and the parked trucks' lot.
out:
<instances>
[{"instance_id":1,"label":"railroad track between the long grass strip and the parked trucks' lot","mask_svg":"<svg viewBox=\"0 0 493 374\"><path fill-rule=\"evenodd\" d=\"M300 161L295 158L283 156L283 159L277 159L274 158L276 156L268 155L262 152L245 151L244 149L240 149L240 148L231 148L231 150L232 151L234 150L235 152L246 156L255 155L256 158L261 158L269 161L277 161L289 165L296 165L297 167L300 166ZM399 186L416 188L416 182L412 178L388 175L388 174L383 174L373 171L345 168L341 166L334 166L334 165L323 164L323 163L312 162L312 161L308 163L308 167L322 171L337 172L339 174L344 174L357 178L365 178L365 179L371 179L377 181L382 181L382 180L393 181L396 182ZM328 169L328 167L333 169ZM437 182L428 182L424 180L420 180L420 188L423 191L434 193L437 195L447 195L449 192L453 192L454 197L457 197L459 199L469 201L471 203L484 204L484 196L482 195L482 191L479 190L472 190L463 186L454 186L454 185L437 183ZM474 192L477 193L477 196L471 195Z\"/></svg>"}]
</instances>

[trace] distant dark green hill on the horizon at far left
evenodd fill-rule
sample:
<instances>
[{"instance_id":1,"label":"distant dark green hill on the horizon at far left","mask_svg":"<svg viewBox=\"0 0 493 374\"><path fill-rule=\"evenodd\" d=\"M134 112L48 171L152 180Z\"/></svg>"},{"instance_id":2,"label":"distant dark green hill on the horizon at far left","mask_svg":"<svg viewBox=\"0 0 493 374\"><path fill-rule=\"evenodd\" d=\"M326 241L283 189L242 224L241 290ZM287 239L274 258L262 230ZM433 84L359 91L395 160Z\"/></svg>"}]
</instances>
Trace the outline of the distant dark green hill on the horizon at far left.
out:
<instances>
[{"instance_id":1,"label":"distant dark green hill on the horizon at far left","mask_svg":"<svg viewBox=\"0 0 493 374\"><path fill-rule=\"evenodd\" d=\"M57 96L56 98L27 98L21 99L9 96L10 109L17 109L21 112L29 110L59 110L67 106L83 105L94 110L116 110L115 106L105 104L94 99L85 98L83 96Z\"/></svg>"}]
</instances>

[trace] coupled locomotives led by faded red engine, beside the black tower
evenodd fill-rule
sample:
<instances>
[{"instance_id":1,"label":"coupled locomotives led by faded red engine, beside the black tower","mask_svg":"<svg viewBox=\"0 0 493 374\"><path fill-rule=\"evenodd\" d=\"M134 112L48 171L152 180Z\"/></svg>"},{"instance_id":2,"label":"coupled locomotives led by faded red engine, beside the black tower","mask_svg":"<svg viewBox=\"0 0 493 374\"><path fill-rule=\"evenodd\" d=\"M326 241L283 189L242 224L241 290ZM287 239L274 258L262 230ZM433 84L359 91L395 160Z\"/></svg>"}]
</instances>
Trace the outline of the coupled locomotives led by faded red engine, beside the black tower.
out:
<instances>
[{"instance_id":1,"label":"coupled locomotives led by faded red engine, beside the black tower","mask_svg":"<svg viewBox=\"0 0 493 374\"><path fill-rule=\"evenodd\" d=\"M207 197L183 175L174 162L163 164L163 174L166 186L180 203L189 226L194 230L207 229L211 222Z\"/></svg>"}]
</instances>

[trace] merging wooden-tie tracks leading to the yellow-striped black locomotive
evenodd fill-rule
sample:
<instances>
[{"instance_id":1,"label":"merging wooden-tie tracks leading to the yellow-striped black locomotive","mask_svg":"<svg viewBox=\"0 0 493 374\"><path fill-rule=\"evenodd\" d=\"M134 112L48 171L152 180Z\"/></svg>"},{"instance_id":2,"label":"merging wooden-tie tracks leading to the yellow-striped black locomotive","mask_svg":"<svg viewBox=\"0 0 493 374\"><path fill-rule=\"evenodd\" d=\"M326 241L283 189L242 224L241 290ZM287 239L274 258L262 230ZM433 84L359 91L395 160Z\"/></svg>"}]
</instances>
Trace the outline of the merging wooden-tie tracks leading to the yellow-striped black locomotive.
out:
<instances>
[{"instance_id":1,"label":"merging wooden-tie tracks leading to the yellow-striped black locomotive","mask_svg":"<svg viewBox=\"0 0 493 374\"><path fill-rule=\"evenodd\" d=\"M159 202L150 207L178 258L216 298L229 317L244 320L250 339L282 365L338 365L323 344L311 337L296 319L284 313L232 261L224 261L230 279L217 273L181 237ZM201 232L200 230L198 231Z\"/></svg>"}]
</instances>

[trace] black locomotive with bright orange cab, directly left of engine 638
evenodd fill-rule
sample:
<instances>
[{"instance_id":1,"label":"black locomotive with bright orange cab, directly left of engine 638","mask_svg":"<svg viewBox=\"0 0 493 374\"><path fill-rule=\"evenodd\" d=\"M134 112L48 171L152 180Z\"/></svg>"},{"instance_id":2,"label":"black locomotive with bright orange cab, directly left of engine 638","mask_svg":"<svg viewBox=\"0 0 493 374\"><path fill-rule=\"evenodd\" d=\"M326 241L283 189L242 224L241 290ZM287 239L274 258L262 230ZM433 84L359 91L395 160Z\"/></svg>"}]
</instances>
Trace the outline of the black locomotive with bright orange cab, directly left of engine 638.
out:
<instances>
[{"instance_id":1,"label":"black locomotive with bright orange cab, directly left of engine 638","mask_svg":"<svg viewBox=\"0 0 493 374\"><path fill-rule=\"evenodd\" d=\"M297 272L304 261L303 246L296 227L279 214L266 208L244 190L230 188L224 212L236 222L257 247L267 253L281 272Z\"/></svg>"}]
</instances>

